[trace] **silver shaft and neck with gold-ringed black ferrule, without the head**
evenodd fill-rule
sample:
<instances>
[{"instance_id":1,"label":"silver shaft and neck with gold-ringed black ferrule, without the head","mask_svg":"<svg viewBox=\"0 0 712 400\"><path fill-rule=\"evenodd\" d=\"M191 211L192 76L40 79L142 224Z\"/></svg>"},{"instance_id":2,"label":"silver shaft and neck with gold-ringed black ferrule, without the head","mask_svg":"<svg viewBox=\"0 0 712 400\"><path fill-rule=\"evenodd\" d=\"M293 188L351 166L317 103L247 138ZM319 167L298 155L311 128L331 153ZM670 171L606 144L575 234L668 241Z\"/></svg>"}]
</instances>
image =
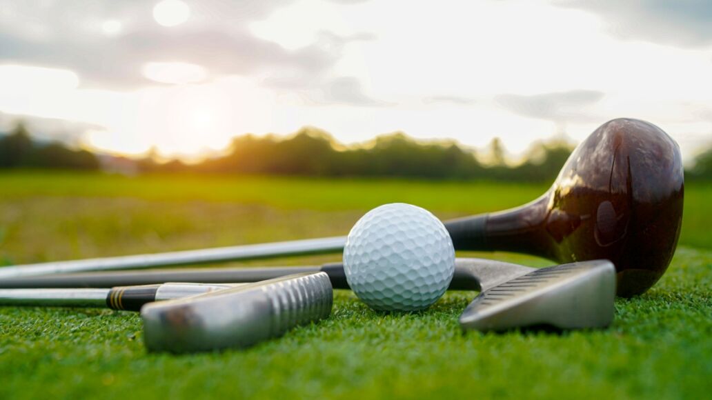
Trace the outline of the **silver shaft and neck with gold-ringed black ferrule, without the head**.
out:
<instances>
[{"instance_id":1,"label":"silver shaft and neck with gold-ringed black ferrule, without the head","mask_svg":"<svg viewBox=\"0 0 712 400\"><path fill-rule=\"evenodd\" d=\"M109 307L139 311L149 302L187 298L239 285L245 284L164 283L111 289L0 289L0 306Z\"/></svg>"}]
</instances>

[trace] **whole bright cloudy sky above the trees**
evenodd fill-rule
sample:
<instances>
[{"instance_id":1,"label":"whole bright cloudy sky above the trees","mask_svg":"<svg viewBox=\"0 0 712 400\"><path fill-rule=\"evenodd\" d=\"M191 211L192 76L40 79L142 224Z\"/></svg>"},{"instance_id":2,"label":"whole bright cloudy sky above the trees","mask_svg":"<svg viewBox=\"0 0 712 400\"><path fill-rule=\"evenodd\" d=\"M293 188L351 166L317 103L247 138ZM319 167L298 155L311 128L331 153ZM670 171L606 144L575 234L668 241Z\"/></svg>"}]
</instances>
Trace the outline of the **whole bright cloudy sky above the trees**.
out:
<instances>
[{"instance_id":1,"label":"whole bright cloudy sky above the trees","mask_svg":"<svg viewBox=\"0 0 712 400\"><path fill-rule=\"evenodd\" d=\"M712 1L0 0L0 130L104 152L313 126L515 156L616 117L712 146Z\"/></svg>"}]
</instances>

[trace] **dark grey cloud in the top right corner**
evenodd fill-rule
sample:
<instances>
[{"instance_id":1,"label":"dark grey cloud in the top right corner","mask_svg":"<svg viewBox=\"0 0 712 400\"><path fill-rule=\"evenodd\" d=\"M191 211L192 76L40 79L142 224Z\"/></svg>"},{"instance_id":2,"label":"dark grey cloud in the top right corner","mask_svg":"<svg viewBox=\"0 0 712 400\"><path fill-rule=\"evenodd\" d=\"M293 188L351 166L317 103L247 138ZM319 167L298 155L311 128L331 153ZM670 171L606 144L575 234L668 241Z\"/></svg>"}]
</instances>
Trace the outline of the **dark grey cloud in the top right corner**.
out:
<instances>
[{"instance_id":1,"label":"dark grey cloud in the top right corner","mask_svg":"<svg viewBox=\"0 0 712 400\"><path fill-rule=\"evenodd\" d=\"M555 4L599 14L619 38L682 47L712 44L709 0L559 0Z\"/></svg>"}]
</instances>

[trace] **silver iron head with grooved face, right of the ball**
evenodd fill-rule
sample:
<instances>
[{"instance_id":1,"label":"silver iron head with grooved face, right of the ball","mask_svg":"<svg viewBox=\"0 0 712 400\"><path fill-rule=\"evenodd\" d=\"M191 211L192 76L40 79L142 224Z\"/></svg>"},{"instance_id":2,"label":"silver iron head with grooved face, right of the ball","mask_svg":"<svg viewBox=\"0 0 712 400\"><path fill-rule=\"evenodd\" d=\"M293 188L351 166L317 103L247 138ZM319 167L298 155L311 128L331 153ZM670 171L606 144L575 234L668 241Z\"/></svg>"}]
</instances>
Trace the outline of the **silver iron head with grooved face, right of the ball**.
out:
<instances>
[{"instance_id":1,"label":"silver iron head with grooved face, right of the ball","mask_svg":"<svg viewBox=\"0 0 712 400\"><path fill-rule=\"evenodd\" d=\"M615 268L608 260L530 269L483 290L460 315L460 326L480 331L607 327L615 293Z\"/></svg>"}]
</instances>

